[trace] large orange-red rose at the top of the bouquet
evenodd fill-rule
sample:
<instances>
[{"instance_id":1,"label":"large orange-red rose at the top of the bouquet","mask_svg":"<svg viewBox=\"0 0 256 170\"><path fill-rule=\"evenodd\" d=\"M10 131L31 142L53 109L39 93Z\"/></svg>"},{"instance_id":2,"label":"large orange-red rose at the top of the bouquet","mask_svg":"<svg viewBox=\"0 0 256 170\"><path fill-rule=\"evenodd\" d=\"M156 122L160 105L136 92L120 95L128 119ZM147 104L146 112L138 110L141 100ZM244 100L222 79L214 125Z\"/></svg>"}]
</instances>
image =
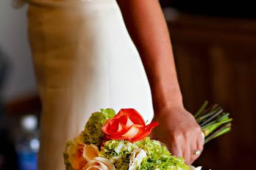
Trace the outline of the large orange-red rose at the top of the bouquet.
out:
<instances>
[{"instance_id":1,"label":"large orange-red rose at the top of the bouquet","mask_svg":"<svg viewBox=\"0 0 256 170\"><path fill-rule=\"evenodd\" d=\"M158 124L158 122L151 122L146 126L139 112L133 108L123 108L104 124L102 130L108 139L134 142L148 136Z\"/></svg>"}]
</instances>

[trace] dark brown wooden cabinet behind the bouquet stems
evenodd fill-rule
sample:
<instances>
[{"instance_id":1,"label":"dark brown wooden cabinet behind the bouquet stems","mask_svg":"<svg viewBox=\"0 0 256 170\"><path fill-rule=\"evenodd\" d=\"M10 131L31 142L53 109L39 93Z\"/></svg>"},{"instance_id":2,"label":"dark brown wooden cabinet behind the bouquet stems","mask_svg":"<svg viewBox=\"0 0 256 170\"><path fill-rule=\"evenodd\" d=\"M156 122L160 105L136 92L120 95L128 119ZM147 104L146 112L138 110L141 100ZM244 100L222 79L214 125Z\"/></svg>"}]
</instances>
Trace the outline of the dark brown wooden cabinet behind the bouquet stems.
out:
<instances>
[{"instance_id":1,"label":"dark brown wooden cabinet behind the bouquet stems","mask_svg":"<svg viewBox=\"0 0 256 170\"><path fill-rule=\"evenodd\" d=\"M231 113L232 132L205 146L205 169L254 169L256 21L177 15L168 21L186 108L205 99Z\"/></svg>"}]
</instances>

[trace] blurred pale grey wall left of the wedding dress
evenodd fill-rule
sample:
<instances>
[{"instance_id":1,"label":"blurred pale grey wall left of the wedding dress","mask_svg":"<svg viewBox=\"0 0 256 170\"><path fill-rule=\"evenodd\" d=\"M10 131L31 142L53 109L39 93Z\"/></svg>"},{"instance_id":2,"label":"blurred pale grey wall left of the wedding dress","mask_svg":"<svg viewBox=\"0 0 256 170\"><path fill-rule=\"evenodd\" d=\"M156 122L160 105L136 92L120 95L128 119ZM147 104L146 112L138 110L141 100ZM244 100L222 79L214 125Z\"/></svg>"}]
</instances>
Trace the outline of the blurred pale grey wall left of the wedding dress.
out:
<instances>
[{"instance_id":1,"label":"blurred pale grey wall left of the wedding dress","mask_svg":"<svg viewBox=\"0 0 256 170\"><path fill-rule=\"evenodd\" d=\"M26 6L13 9L11 0L0 0L0 49L10 60L8 79L1 94L5 102L37 93L27 39L26 10Z\"/></svg>"}]
</instances>

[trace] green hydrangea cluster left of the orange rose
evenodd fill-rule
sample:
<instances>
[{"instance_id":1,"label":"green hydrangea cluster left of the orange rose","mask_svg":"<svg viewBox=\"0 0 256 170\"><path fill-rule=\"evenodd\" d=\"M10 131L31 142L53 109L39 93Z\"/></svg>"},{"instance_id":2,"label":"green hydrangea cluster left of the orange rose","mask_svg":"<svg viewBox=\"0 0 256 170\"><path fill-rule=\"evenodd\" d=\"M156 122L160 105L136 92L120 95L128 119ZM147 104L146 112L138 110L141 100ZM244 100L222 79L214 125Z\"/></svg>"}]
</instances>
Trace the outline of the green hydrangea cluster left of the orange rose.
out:
<instances>
[{"instance_id":1,"label":"green hydrangea cluster left of the orange rose","mask_svg":"<svg viewBox=\"0 0 256 170\"><path fill-rule=\"evenodd\" d=\"M100 146L104 136L101 128L108 119L114 116L115 111L112 108L101 109L100 112L92 113L82 132L84 143Z\"/></svg>"}]
</instances>

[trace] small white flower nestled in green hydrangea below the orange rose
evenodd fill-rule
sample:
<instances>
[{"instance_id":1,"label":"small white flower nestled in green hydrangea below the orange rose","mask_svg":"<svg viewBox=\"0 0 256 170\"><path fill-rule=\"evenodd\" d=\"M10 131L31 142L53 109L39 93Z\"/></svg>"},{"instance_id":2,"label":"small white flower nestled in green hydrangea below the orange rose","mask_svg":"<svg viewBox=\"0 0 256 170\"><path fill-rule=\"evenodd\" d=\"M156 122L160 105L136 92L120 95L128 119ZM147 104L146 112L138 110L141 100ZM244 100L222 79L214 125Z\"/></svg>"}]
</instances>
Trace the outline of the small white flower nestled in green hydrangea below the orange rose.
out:
<instances>
[{"instance_id":1,"label":"small white flower nestled in green hydrangea below the orange rose","mask_svg":"<svg viewBox=\"0 0 256 170\"><path fill-rule=\"evenodd\" d=\"M136 170L137 166L141 165L141 162L145 157L147 157L147 154L143 149L134 149L134 151L131 153L128 170Z\"/></svg>"}]
</instances>

